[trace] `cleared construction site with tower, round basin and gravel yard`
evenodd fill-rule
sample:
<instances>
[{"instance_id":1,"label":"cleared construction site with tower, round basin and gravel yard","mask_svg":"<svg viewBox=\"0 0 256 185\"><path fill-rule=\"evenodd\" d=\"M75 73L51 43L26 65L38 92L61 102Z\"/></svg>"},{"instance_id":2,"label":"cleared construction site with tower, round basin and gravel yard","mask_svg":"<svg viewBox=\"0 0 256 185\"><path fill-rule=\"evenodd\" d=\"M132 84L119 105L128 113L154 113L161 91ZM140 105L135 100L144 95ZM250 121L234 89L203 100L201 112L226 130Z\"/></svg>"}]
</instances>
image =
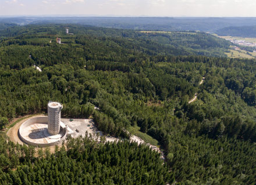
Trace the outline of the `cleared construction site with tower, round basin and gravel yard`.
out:
<instances>
[{"instance_id":1,"label":"cleared construction site with tower, round basin and gravel yard","mask_svg":"<svg viewBox=\"0 0 256 185\"><path fill-rule=\"evenodd\" d=\"M63 119L61 109L59 102L49 102L48 116L35 115L23 119L10 128L7 135L14 143L50 147L61 144L67 135L78 137L97 133L93 120Z\"/></svg>"}]
</instances>

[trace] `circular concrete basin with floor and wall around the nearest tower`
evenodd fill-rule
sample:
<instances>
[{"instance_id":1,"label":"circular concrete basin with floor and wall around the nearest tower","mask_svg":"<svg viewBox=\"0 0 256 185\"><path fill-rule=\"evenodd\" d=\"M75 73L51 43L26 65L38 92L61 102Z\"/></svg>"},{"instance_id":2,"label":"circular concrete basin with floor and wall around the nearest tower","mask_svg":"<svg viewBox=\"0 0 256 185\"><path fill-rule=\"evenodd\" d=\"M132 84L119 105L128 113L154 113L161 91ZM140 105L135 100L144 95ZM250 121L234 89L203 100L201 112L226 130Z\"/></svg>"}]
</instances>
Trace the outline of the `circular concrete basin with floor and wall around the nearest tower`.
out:
<instances>
[{"instance_id":1,"label":"circular concrete basin with floor and wall around the nearest tower","mask_svg":"<svg viewBox=\"0 0 256 185\"><path fill-rule=\"evenodd\" d=\"M52 136L48 133L48 117L36 117L26 120L19 128L21 140L29 145L37 147L49 147L60 143L66 138L66 128L62 128L59 134Z\"/></svg>"}]
</instances>

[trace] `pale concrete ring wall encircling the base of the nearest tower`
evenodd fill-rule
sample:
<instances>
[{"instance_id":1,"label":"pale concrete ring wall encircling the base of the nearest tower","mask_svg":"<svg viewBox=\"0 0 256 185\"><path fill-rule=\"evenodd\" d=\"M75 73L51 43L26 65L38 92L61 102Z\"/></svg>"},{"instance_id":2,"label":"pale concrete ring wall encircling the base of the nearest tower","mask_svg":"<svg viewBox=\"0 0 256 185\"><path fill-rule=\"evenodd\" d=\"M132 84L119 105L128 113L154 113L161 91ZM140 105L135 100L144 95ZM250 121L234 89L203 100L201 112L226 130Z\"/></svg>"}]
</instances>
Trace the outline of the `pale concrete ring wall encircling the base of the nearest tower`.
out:
<instances>
[{"instance_id":1,"label":"pale concrete ring wall encircling the base of the nearest tower","mask_svg":"<svg viewBox=\"0 0 256 185\"><path fill-rule=\"evenodd\" d=\"M24 143L33 145L35 147L50 147L50 146L56 145L57 143L65 140L67 132L66 132L66 129L64 129L64 128L63 128L63 130L65 131L65 133L62 135L61 139L58 141L52 142L52 143L33 143L31 141L26 140L26 138L23 136L22 130L25 130L26 127L28 127L34 123L47 124L47 121L48 121L48 117L46 117L46 116L45 117L36 117L36 118L31 118L31 119L26 120L26 122L22 123L22 125L19 128L19 136L20 136L21 140Z\"/></svg>"}]
</instances>

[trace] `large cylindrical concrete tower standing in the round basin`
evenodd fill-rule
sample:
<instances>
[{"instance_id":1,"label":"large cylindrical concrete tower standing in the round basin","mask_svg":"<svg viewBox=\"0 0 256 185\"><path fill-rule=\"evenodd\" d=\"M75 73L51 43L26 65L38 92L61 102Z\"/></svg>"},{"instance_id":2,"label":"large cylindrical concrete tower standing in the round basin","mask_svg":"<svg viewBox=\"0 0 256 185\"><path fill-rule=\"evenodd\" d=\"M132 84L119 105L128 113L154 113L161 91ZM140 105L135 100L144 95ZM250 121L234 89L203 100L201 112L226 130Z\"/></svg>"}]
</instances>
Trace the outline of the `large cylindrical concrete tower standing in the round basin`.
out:
<instances>
[{"instance_id":1,"label":"large cylindrical concrete tower standing in the round basin","mask_svg":"<svg viewBox=\"0 0 256 185\"><path fill-rule=\"evenodd\" d=\"M59 134L62 107L58 102L48 103L48 133L51 135Z\"/></svg>"}]
</instances>

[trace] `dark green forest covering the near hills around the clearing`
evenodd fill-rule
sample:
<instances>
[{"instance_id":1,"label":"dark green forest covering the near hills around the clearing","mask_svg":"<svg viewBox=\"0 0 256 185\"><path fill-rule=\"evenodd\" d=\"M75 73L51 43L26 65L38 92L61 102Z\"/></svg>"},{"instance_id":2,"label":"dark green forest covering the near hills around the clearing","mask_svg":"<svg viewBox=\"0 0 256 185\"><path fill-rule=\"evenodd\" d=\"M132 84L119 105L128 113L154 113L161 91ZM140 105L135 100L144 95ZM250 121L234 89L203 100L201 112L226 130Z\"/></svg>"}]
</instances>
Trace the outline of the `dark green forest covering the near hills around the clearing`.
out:
<instances>
[{"instance_id":1,"label":"dark green forest covering the near hills around the clearing","mask_svg":"<svg viewBox=\"0 0 256 185\"><path fill-rule=\"evenodd\" d=\"M0 30L0 184L255 184L256 61L226 58L229 45L186 31ZM123 141L68 138L54 154L9 141L8 120L45 113L49 100ZM164 163L126 140L134 128L158 141Z\"/></svg>"}]
</instances>

